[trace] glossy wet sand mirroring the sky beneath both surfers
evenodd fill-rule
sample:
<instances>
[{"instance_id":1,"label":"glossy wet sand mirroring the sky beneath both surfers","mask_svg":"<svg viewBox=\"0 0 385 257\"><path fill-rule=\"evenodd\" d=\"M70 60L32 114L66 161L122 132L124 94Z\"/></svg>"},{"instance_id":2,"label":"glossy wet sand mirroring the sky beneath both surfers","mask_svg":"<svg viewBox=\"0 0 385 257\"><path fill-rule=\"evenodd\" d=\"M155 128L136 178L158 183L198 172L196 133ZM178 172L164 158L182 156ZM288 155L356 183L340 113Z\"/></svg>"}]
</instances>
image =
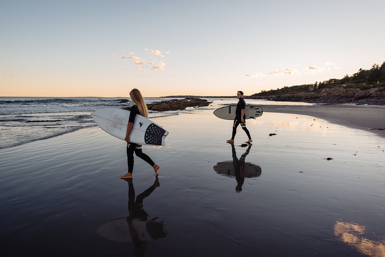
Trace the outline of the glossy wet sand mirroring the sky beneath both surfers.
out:
<instances>
[{"instance_id":1,"label":"glossy wet sand mirroring the sky beneath both surfers","mask_svg":"<svg viewBox=\"0 0 385 257\"><path fill-rule=\"evenodd\" d=\"M170 132L143 147L160 187L136 158L129 219L126 146L99 128L0 150L6 255L385 255L384 139L264 113L246 121L253 145L239 126L232 147L232 121L209 110L154 121Z\"/></svg>"}]
</instances>

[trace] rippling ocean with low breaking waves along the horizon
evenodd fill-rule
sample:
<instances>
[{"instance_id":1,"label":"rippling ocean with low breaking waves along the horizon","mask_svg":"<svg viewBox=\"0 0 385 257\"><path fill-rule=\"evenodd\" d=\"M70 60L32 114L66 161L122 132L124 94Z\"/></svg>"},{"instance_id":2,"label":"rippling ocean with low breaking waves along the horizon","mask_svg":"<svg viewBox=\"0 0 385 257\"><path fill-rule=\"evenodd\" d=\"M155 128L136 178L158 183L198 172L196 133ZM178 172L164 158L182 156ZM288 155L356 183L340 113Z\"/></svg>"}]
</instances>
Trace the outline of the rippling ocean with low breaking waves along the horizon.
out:
<instances>
[{"instance_id":1,"label":"rippling ocean with low breaking waves along the horizon","mask_svg":"<svg viewBox=\"0 0 385 257\"><path fill-rule=\"evenodd\" d=\"M127 103L120 103L122 100ZM182 98L145 97L146 103ZM236 104L236 98L202 98L213 101L210 106L187 108L182 111L149 111L149 118L192 113L218 108L220 104ZM247 99L252 104L263 100ZM269 104L312 105L309 103L269 102ZM0 97L0 149L49 139L96 123L90 113L102 108L124 108L131 106L130 98L123 97Z\"/></svg>"}]
</instances>

